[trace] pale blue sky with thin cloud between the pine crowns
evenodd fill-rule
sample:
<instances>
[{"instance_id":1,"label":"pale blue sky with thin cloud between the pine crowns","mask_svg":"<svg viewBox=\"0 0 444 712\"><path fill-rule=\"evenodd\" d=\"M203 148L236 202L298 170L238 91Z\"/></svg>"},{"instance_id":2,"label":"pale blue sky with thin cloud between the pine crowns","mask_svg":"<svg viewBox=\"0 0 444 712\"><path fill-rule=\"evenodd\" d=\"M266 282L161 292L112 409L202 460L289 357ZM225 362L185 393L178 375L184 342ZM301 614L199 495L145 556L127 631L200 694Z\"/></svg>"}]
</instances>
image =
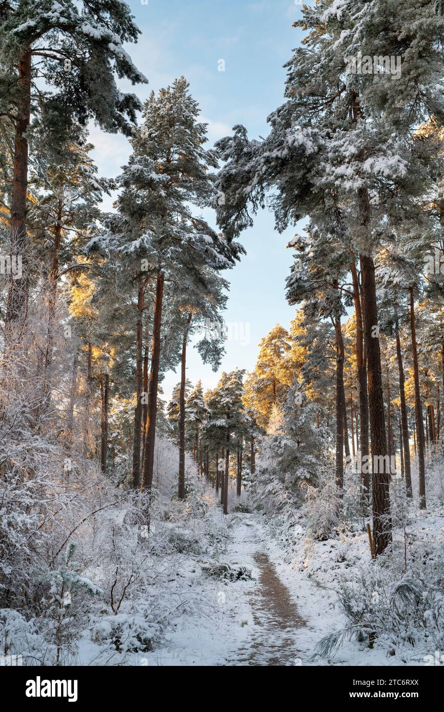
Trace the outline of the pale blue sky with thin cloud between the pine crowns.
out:
<instances>
[{"instance_id":1,"label":"pale blue sky with thin cloud between the pine crowns","mask_svg":"<svg viewBox=\"0 0 444 712\"><path fill-rule=\"evenodd\" d=\"M148 86L136 88L142 100L183 74L200 103L211 143L239 123L250 137L267 135L267 116L284 100L283 64L301 39L301 31L291 27L301 15L299 4L294 0L148 0L148 4L130 0L128 4L142 31L138 45L128 48L149 80ZM224 71L218 69L221 60ZM130 89L125 83L121 86ZM94 128L91 142L100 174L118 175L130 153L125 138ZM206 217L214 224L212 211ZM242 235L247 256L226 275L231 288L224 320L232 325L234 338L227 341L221 370L237 366L251 370L259 340L274 324L289 325L294 308L287 305L284 294L291 265L291 251L285 244L295 231L277 234L272 214L264 211ZM177 383L177 373L168 373L162 383L166 397ZM192 383L201 378L205 388L218 379L192 347L187 377Z\"/></svg>"}]
</instances>

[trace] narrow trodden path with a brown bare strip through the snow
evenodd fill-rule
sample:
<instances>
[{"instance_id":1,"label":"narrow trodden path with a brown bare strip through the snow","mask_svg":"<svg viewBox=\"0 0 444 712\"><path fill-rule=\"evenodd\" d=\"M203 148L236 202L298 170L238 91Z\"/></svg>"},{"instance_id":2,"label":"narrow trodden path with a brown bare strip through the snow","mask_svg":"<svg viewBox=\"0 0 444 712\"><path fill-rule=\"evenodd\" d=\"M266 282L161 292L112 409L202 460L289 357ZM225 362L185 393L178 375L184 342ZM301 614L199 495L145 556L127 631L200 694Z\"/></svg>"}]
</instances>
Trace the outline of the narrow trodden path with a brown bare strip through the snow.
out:
<instances>
[{"instance_id":1,"label":"narrow trodden path with a brown bare strip through the snow","mask_svg":"<svg viewBox=\"0 0 444 712\"><path fill-rule=\"evenodd\" d=\"M237 555L239 564L251 567L256 578L247 593L254 627L238 649L236 660L227 661L227 665L300 665L298 634L306 622L270 560L264 527L252 515L242 515L236 529L232 555Z\"/></svg>"}]
</instances>

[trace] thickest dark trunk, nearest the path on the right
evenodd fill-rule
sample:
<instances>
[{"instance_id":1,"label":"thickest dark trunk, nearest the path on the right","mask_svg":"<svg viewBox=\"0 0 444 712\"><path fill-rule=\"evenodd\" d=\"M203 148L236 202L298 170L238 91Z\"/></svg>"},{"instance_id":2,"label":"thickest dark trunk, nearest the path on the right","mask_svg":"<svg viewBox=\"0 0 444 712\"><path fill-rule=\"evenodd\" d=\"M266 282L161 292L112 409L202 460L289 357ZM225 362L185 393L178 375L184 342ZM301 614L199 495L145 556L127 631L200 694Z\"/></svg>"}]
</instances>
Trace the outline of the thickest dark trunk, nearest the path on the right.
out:
<instances>
[{"instance_id":1,"label":"thickest dark trunk, nearest the path on the right","mask_svg":"<svg viewBox=\"0 0 444 712\"><path fill-rule=\"evenodd\" d=\"M368 192L359 191L361 224L368 226ZM376 556L391 543L390 517L390 467L387 467L387 438L384 422L384 400L381 376L381 351L378 337L378 310L376 306L375 265L373 258L360 255L363 290L363 327L367 354L368 411L370 414L372 462L373 548ZM375 472L375 458L378 470ZM382 467L380 466L382 463Z\"/></svg>"}]
</instances>

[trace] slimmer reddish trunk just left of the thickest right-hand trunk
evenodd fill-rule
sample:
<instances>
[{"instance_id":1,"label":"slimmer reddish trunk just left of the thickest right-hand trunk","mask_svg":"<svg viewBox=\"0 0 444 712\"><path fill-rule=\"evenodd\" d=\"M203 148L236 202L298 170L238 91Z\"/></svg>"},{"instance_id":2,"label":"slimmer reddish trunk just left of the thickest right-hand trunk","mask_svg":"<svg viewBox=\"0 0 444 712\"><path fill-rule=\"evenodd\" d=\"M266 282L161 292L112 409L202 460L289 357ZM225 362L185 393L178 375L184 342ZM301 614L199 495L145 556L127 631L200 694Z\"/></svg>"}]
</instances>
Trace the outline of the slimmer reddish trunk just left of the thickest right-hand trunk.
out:
<instances>
[{"instance_id":1,"label":"slimmer reddish trunk just left of the thickest right-hand trunk","mask_svg":"<svg viewBox=\"0 0 444 712\"><path fill-rule=\"evenodd\" d=\"M369 442L368 442L368 393L367 393L367 358L364 348L364 337L363 337L363 309L361 303L361 290L359 288L358 272L356 270L356 263L351 262L350 265L351 277L353 281L353 303L355 307L356 315L356 367L358 370L358 384L359 384L359 419L361 421L361 431L359 438L358 450L361 451L361 462L365 462L370 454ZM358 412L356 411L356 417ZM358 443L358 426L356 425L356 445ZM362 486L362 496L363 501L368 502L370 494L370 473L368 472L368 467L364 468L361 466L361 486Z\"/></svg>"}]
</instances>

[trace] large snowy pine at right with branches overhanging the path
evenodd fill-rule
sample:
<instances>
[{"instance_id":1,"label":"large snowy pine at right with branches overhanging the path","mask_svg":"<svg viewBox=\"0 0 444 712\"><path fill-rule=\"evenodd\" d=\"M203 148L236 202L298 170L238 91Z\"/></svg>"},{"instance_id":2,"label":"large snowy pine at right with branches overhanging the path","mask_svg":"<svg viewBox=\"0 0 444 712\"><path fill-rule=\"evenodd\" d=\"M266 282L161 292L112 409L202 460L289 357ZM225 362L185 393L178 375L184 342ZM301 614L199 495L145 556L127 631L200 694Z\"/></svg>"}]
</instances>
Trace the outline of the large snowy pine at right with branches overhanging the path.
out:
<instances>
[{"instance_id":1,"label":"large snowy pine at right with branches overhanging the path","mask_svg":"<svg viewBox=\"0 0 444 712\"><path fill-rule=\"evenodd\" d=\"M385 0L326 0L303 6L302 15L295 24L308 34L286 65L286 103L270 115L269 136L249 141L237 126L218 143L227 164L217 211L221 226L239 234L272 189L277 229L307 214L324 226L344 221L361 266L372 453L385 461L373 260L381 206L396 205L402 214L427 175L423 145L412 145L411 133L431 115L443 116L444 24L432 4L418 9L415 0L393 4L390 12ZM366 59L358 71L363 56L371 67ZM393 71L384 58L389 67L395 60ZM376 554L391 541L389 477L373 473Z\"/></svg>"}]
</instances>

